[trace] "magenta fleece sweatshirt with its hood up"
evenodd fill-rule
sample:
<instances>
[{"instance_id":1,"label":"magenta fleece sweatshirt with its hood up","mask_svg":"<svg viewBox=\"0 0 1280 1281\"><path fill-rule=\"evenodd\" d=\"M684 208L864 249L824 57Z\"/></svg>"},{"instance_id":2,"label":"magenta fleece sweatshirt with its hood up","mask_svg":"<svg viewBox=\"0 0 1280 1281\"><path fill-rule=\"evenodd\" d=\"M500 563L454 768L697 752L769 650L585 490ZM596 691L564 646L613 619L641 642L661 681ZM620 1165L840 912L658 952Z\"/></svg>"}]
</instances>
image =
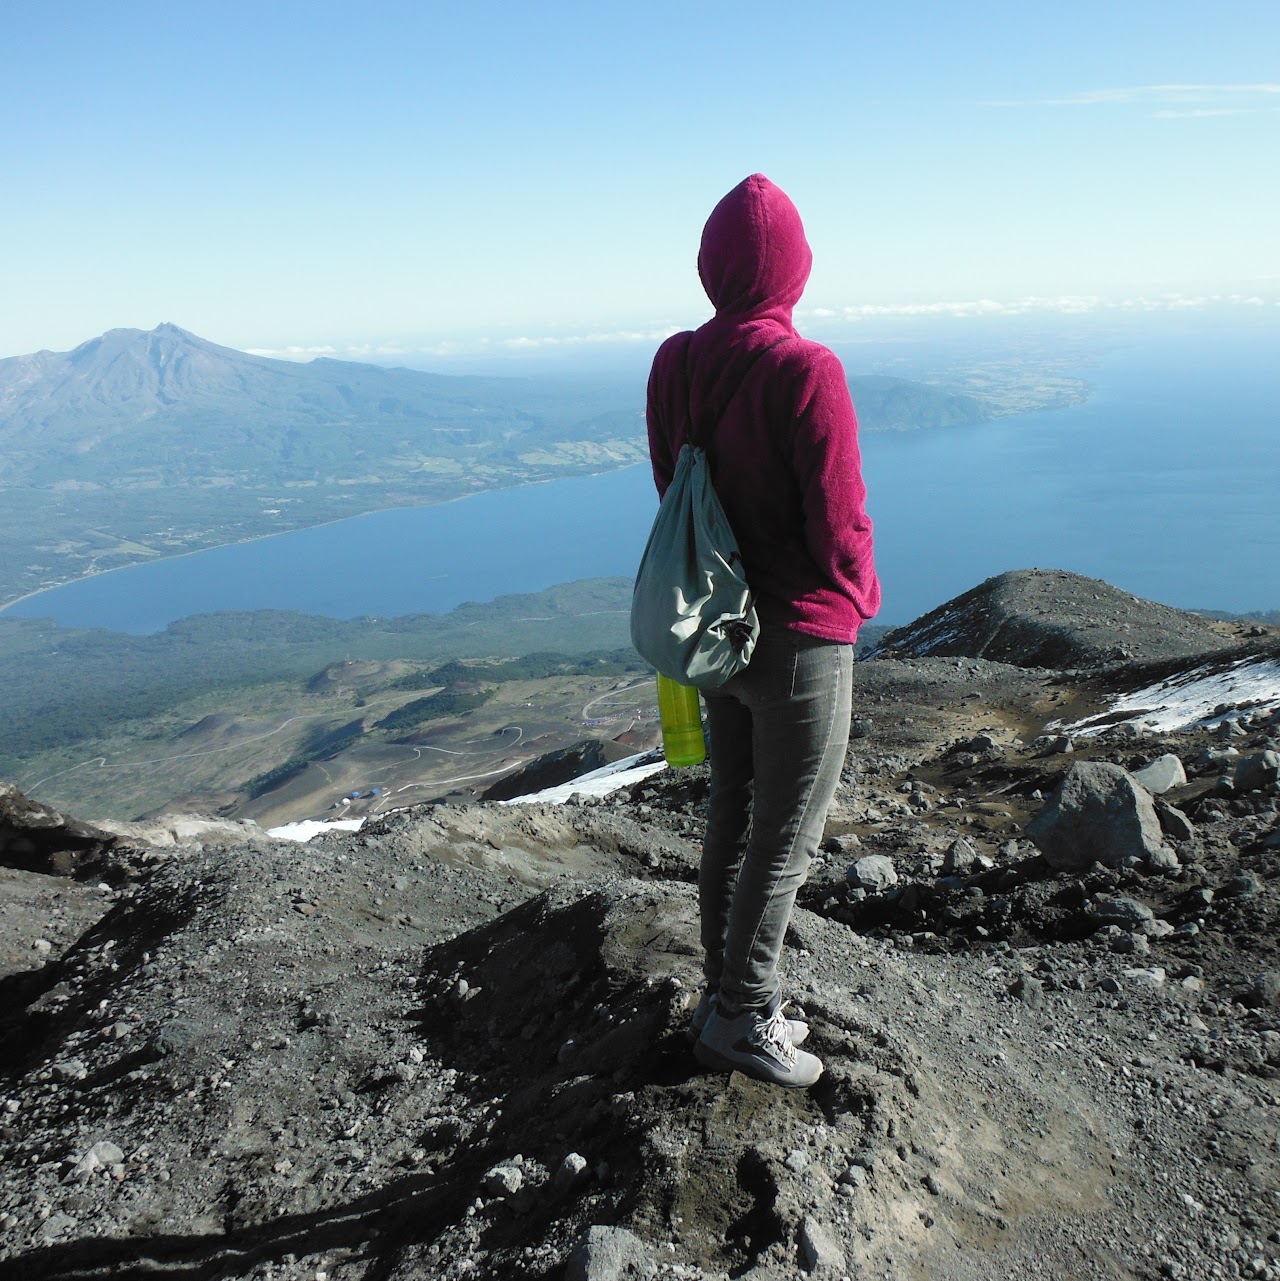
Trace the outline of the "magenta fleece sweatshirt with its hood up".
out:
<instances>
[{"instance_id":1,"label":"magenta fleece sweatshirt with its hood up","mask_svg":"<svg viewBox=\"0 0 1280 1281\"><path fill-rule=\"evenodd\" d=\"M764 174L715 206L698 252L715 316L657 350L648 446L662 494L692 412L760 621L852 643L880 584L844 369L791 320L812 263L796 206Z\"/></svg>"}]
</instances>

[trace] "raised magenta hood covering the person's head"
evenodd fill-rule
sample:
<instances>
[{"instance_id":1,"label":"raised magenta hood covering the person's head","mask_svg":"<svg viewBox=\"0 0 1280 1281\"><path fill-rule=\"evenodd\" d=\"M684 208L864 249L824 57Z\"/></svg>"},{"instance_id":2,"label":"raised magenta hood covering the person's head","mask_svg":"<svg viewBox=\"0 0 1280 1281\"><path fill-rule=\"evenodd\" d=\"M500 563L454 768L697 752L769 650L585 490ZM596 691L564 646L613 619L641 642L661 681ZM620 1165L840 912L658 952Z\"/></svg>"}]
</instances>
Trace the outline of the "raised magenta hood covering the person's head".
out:
<instances>
[{"instance_id":1,"label":"raised magenta hood covering the person's head","mask_svg":"<svg viewBox=\"0 0 1280 1281\"><path fill-rule=\"evenodd\" d=\"M698 275L718 316L789 324L812 265L798 210L762 173L739 182L702 228Z\"/></svg>"}]
</instances>

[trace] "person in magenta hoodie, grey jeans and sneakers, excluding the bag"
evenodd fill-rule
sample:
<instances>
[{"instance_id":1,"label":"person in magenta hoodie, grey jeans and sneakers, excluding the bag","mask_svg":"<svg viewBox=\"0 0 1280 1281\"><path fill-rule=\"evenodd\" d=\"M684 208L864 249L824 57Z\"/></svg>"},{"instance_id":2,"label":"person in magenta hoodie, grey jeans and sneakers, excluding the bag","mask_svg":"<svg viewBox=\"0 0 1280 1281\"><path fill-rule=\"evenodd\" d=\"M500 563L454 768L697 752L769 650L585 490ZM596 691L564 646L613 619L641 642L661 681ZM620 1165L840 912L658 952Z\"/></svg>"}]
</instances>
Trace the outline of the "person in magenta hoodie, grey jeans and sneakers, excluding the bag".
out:
<instances>
[{"instance_id":1,"label":"person in magenta hoodie, grey jeans and sneakers, excluding the bag","mask_svg":"<svg viewBox=\"0 0 1280 1281\"><path fill-rule=\"evenodd\" d=\"M844 763L857 629L880 603L844 370L792 325L812 260L780 188L764 174L734 187L698 252L715 316L659 348L647 409L660 494L700 424L761 624L750 666L706 698L694 1053L794 1086L823 1065L782 1013L778 959Z\"/></svg>"}]
</instances>

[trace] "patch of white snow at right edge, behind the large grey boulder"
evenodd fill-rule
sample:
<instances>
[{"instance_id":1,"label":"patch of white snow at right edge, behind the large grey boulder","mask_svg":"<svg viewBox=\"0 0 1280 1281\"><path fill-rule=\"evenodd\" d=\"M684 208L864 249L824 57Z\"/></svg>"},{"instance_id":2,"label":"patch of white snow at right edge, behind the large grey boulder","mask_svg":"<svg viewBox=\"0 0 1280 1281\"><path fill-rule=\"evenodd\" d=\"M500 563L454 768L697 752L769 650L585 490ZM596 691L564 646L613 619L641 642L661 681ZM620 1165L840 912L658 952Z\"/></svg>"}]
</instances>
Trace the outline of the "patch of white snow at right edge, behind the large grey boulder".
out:
<instances>
[{"instance_id":1,"label":"patch of white snow at right edge, behind the large grey boulder","mask_svg":"<svg viewBox=\"0 0 1280 1281\"><path fill-rule=\"evenodd\" d=\"M1101 734L1112 725L1133 722L1167 734L1277 708L1280 660L1249 657L1238 658L1227 667L1212 664L1194 667L1158 684L1134 689L1117 698L1108 712L1087 716L1066 729L1089 735Z\"/></svg>"}]
</instances>

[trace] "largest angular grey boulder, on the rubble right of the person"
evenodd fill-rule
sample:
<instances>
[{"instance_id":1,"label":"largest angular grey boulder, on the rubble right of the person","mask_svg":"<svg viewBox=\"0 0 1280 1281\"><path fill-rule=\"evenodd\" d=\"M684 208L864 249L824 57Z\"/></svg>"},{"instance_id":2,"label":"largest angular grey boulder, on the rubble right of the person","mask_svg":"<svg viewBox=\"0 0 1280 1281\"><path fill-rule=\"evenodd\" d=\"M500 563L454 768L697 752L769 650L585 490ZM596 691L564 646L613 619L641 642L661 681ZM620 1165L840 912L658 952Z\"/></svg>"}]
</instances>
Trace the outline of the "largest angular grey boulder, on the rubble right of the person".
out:
<instances>
[{"instance_id":1,"label":"largest angular grey boulder, on the rubble right of the person","mask_svg":"<svg viewBox=\"0 0 1280 1281\"><path fill-rule=\"evenodd\" d=\"M1151 793L1106 761L1072 765L1026 835L1058 871L1120 867L1133 858L1153 862L1170 853Z\"/></svg>"}]
</instances>

